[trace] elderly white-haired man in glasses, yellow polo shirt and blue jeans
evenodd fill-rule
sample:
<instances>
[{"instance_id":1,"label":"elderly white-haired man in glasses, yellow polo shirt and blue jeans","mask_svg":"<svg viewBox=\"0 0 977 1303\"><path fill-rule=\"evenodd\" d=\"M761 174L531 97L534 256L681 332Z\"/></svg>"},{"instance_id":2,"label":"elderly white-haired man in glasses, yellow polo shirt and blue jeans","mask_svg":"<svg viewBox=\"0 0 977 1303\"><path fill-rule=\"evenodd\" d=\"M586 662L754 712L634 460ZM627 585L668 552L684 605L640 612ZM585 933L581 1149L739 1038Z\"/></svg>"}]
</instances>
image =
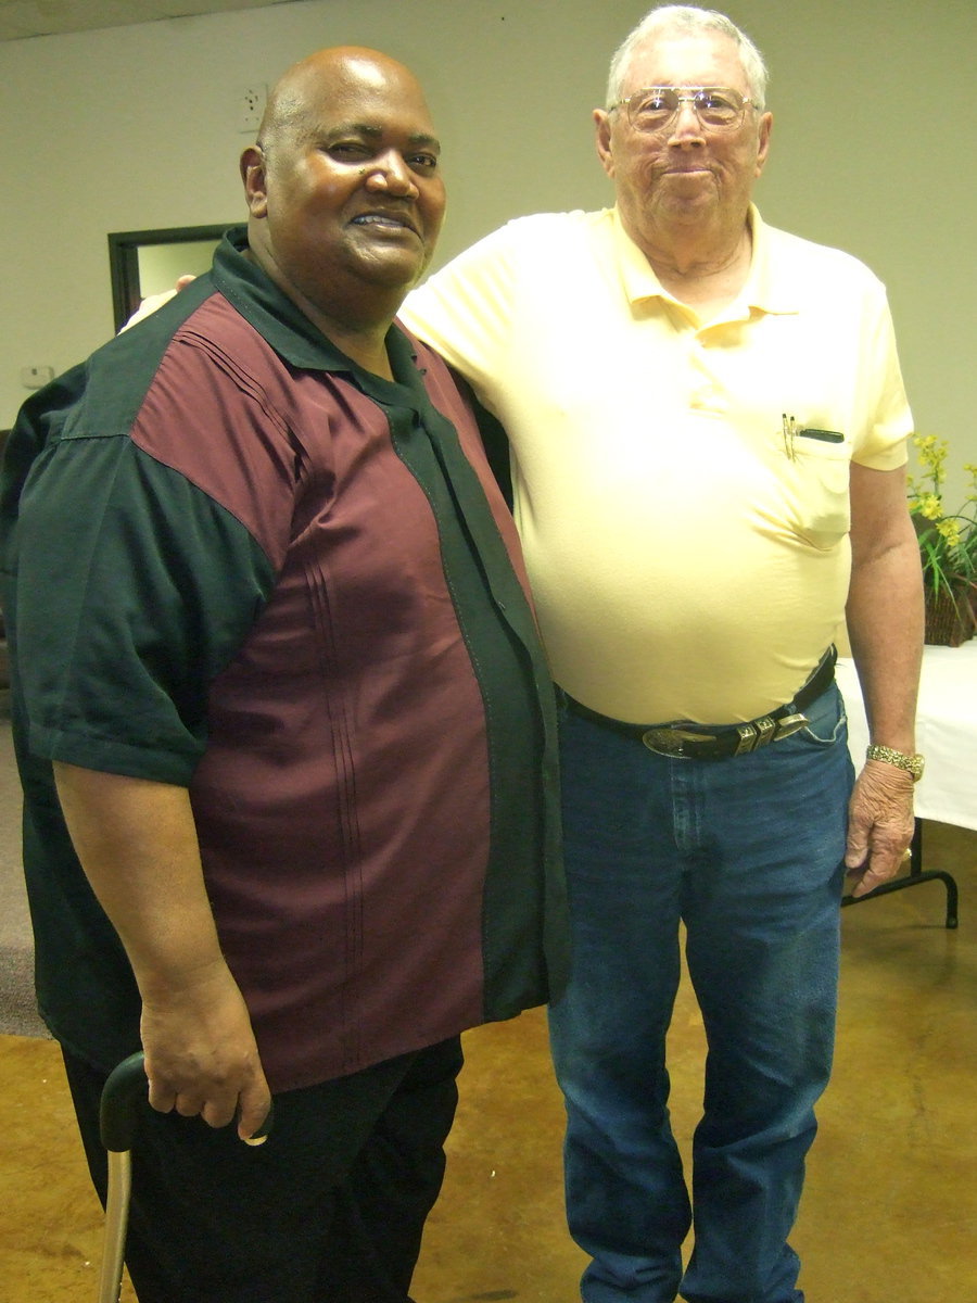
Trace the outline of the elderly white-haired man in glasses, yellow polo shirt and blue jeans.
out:
<instances>
[{"instance_id":1,"label":"elderly white-haired man in glasses, yellow polo shirt and blue jeans","mask_svg":"<svg viewBox=\"0 0 977 1303\"><path fill-rule=\"evenodd\" d=\"M511 442L564 705L573 976L552 1007L586 1303L799 1303L845 868L911 838L922 632L883 287L767 227L766 70L653 10L611 65L602 212L524 218L404 317ZM832 681L847 619L871 747ZM709 1055L690 1192L668 1119L680 925ZM683 1243L694 1250L683 1268Z\"/></svg>"}]
</instances>

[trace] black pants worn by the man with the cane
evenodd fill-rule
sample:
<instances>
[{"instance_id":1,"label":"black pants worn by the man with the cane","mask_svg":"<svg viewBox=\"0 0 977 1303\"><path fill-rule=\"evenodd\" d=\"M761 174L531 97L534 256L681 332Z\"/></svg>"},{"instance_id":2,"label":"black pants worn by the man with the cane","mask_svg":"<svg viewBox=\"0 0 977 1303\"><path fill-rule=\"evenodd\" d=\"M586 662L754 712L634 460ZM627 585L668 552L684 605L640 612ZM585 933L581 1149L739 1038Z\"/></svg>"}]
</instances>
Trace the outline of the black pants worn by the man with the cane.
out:
<instances>
[{"instance_id":1,"label":"black pants worn by the man with the cane","mask_svg":"<svg viewBox=\"0 0 977 1303\"><path fill-rule=\"evenodd\" d=\"M104 1075L64 1052L95 1188ZM275 1097L257 1148L146 1108L126 1267L139 1303L409 1303L457 1104L457 1037Z\"/></svg>"}]
</instances>

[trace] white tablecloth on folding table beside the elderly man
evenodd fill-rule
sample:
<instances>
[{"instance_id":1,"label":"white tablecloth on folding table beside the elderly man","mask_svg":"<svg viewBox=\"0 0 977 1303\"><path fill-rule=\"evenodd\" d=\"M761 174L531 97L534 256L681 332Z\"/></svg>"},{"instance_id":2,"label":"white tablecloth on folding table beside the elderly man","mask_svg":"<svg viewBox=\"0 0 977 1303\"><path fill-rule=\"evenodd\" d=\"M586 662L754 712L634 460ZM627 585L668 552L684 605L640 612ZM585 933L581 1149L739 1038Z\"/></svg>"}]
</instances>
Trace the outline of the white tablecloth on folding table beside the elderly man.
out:
<instances>
[{"instance_id":1,"label":"white tablecloth on folding table beside the elderly man","mask_svg":"<svg viewBox=\"0 0 977 1303\"><path fill-rule=\"evenodd\" d=\"M865 762L865 723L855 663L838 661L856 773ZM916 784L920 818L977 829L977 638L960 648L924 648L916 749L926 769Z\"/></svg>"}]
</instances>

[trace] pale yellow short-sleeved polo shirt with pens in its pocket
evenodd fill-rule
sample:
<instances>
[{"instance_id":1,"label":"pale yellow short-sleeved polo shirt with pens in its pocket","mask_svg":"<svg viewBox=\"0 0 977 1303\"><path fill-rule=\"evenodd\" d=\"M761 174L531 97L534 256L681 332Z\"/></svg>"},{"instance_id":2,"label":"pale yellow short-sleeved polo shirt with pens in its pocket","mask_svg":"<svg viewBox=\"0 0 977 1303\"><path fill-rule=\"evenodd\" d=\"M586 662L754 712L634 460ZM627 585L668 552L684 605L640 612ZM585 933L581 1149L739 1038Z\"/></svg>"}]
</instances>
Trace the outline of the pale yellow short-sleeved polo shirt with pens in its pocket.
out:
<instances>
[{"instance_id":1,"label":"pale yellow short-sleeved polo shirt with pens in its pocket","mask_svg":"<svg viewBox=\"0 0 977 1303\"><path fill-rule=\"evenodd\" d=\"M614 210L512 222L401 311L505 426L554 678L619 719L789 701L843 619L849 461L907 460L883 287L752 224L748 281L711 322Z\"/></svg>"}]
</instances>

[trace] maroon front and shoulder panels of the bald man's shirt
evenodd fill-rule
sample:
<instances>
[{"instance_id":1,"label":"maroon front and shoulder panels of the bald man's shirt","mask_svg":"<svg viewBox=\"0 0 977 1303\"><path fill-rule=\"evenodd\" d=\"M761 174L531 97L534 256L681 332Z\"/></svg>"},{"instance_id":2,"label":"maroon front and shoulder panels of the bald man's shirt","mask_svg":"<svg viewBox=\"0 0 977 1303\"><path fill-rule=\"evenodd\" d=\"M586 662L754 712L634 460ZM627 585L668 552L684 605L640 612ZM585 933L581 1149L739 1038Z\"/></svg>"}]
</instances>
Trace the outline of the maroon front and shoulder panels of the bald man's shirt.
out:
<instances>
[{"instance_id":1,"label":"maroon front and shoulder panels of the bald man's shirt","mask_svg":"<svg viewBox=\"0 0 977 1303\"><path fill-rule=\"evenodd\" d=\"M473 450L447 373L430 375ZM292 373L215 296L175 336L133 438L279 571L212 685L191 784L221 945L272 1088L479 1023L483 705L430 504L384 412L343 374Z\"/></svg>"}]
</instances>

